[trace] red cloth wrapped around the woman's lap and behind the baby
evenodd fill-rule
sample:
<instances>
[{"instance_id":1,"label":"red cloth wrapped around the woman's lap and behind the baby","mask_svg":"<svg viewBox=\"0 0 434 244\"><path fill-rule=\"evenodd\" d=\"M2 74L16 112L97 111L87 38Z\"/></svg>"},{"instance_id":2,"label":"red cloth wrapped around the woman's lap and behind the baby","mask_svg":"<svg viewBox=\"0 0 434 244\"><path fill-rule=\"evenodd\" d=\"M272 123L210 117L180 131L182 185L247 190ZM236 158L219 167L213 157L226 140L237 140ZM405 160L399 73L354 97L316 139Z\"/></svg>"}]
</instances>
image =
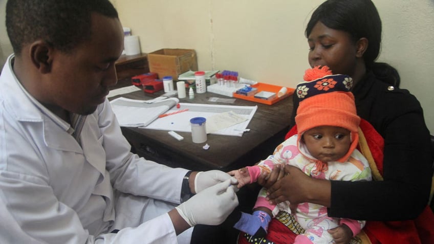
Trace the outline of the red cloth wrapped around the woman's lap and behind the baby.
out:
<instances>
[{"instance_id":1,"label":"red cloth wrapped around the woman's lap and behind the baby","mask_svg":"<svg viewBox=\"0 0 434 244\"><path fill-rule=\"evenodd\" d=\"M375 160L380 174L383 174L383 148L384 140L366 120L360 121L360 128L363 131L368 147ZM297 126L290 129L285 139L297 134ZM398 203L397 203L398 204ZM399 213L397 213L399 214ZM434 243L434 213L429 206L415 220L405 221L366 221L364 232L372 244L433 244ZM273 218L268 227L267 240L276 244L294 242L296 234L282 224L278 219ZM249 243L240 234L239 244Z\"/></svg>"}]
</instances>

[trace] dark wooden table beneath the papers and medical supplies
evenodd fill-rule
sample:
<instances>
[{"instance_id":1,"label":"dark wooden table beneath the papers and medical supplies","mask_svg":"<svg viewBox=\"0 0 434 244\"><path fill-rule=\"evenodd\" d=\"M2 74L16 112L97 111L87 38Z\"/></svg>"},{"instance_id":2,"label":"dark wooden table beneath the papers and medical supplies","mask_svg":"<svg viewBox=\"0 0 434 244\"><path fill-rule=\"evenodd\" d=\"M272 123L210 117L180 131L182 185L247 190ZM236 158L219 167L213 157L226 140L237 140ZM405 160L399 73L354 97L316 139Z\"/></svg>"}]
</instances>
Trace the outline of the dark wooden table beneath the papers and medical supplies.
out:
<instances>
[{"instance_id":1,"label":"dark wooden table beneath the papers and medical supplies","mask_svg":"<svg viewBox=\"0 0 434 244\"><path fill-rule=\"evenodd\" d=\"M141 91L124 94L132 99L151 99L161 96L163 92L146 94ZM229 98L226 96L204 93L195 94L194 99L180 99L180 102L211 103L210 97ZM116 97L114 97L116 98ZM113 99L113 98L112 98ZM242 137L208 135L206 143L210 146L204 150L205 143L197 144L191 140L191 133L178 132L184 140L178 141L167 134L165 130L122 127L126 139L132 144L132 151L148 160L166 164L171 167L183 167L191 170L220 169L228 171L252 165L265 159L274 148L283 142L289 130L289 118L292 113L292 96L273 105L236 99L235 103L215 103L223 105L257 105L254 114Z\"/></svg>"}]
</instances>

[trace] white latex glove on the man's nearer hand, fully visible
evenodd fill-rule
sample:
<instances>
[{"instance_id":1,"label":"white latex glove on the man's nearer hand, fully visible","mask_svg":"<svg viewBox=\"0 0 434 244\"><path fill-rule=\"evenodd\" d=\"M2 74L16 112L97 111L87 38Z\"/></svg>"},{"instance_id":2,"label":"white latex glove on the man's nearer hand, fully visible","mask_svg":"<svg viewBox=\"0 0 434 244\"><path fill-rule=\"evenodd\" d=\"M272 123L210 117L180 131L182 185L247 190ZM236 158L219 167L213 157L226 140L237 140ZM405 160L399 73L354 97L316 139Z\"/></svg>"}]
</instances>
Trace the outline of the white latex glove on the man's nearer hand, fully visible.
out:
<instances>
[{"instance_id":1,"label":"white latex glove on the man's nearer hand, fully visible","mask_svg":"<svg viewBox=\"0 0 434 244\"><path fill-rule=\"evenodd\" d=\"M230 182L228 179L208 187L176 209L191 227L198 224L211 226L222 224L238 206L238 198Z\"/></svg>"}]
</instances>

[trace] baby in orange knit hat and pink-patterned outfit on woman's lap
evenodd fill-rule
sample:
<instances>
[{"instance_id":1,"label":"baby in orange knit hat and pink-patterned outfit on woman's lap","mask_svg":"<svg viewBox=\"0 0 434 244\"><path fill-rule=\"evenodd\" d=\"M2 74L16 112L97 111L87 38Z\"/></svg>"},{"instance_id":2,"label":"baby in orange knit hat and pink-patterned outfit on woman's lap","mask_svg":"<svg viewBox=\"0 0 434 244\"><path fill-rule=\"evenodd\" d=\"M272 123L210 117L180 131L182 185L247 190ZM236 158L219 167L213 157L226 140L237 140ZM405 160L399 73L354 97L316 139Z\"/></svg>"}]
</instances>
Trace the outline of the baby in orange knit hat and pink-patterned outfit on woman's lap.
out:
<instances>
[{"instance_id":1,"label":"baby in orange knit hat and pink-patterned outfit on woman's lap","mask_svg":"<svg viewBox=\"0 0 434 244\"><path fill-rule=\"evenodd\" d=\"M350 92L351 77L333 75L327 66L306 71L305 82L297 85L300 104L295 117L298 134L276 147L273 155L258 165L230 171L238 188L256 182L262 172L269 173L276 164L296 166L316 179L334 181L371 181L371 169L358 144L360 118ZM289 202L270 205L266 189L258 195L253 215L242 213L234 228L256 237L265 237L271 217L279 211L291 213ZM336 238L351 239L364 227L365 221L332 218L327 207L302 203L295 219L304 234L294 243L334 243ZM337 228L336 228L337 227ZM334 234L328 232L330 229Z\"/></svg>"}]
</instances>

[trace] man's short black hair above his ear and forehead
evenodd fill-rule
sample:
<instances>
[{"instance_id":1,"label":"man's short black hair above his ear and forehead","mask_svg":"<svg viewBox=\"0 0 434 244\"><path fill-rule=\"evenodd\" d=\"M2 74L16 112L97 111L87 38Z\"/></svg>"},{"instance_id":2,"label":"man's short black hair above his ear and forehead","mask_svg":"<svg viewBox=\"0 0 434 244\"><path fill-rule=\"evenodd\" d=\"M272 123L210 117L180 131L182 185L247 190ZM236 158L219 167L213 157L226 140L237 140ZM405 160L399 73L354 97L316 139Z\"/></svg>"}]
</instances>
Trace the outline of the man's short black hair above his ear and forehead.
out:
<instances>
[{"instance_id":1,"label":"man's short black hair above his ear and forehead","mask_svg":"<svg viewBox=\"0 0 434 244\"><path fill-rule=\"evenodd\" d=\"M8 0L6 29L15 55L38 39L72 50L91 37L92 13L118 18L108 0Z\"/></svg>"}]
</instances>

